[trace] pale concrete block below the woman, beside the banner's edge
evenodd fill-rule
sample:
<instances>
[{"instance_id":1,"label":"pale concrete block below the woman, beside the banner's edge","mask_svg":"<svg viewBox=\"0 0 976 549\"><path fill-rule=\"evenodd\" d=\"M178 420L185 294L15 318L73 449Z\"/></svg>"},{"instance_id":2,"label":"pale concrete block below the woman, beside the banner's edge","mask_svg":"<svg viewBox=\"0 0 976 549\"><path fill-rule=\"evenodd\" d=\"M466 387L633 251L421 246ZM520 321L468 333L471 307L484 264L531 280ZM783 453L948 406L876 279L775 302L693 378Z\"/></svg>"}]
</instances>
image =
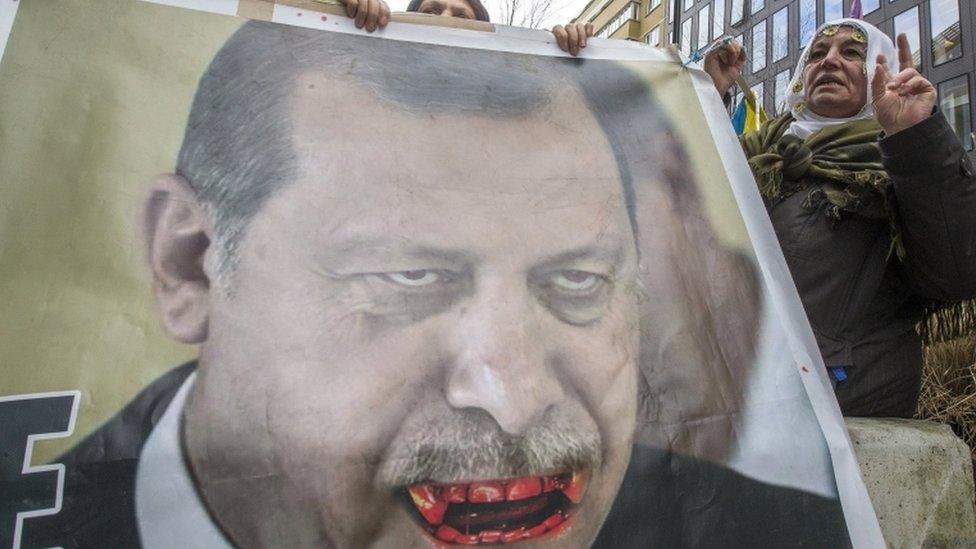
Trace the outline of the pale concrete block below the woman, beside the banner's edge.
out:
<instances>
[{"instance_id":1,"label":"pale concrete block below the woman, beside the banner's edge","mask_svg":"<svg viewBox=\"0 0 976 549\"><path fill-rule=\"evenodd\" d=\"M973 462L947 425L847 418L890 547L976 547Z\"/></svg>"}]
</instances>

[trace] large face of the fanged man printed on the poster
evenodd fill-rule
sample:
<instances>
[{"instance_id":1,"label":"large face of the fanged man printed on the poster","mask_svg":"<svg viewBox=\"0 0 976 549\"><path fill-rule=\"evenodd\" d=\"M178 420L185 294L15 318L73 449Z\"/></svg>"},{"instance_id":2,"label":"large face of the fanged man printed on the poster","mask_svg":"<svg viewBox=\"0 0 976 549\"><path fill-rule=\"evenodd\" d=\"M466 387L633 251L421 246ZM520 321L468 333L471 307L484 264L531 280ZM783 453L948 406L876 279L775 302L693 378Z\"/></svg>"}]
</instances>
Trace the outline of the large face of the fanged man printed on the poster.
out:
<instances>
[{"instance_id":1,"label":"large face of the fanged man printed on the poster","mask_svg":"<svg viewBox=\"0 0 976 549\"><path fill-rule=\"evenodd\" d=\"M636 251L582 97L293 84L298 177L209 294L187 455L239 545L588 546L636 407Z\"/></svg>"}]
</instances>

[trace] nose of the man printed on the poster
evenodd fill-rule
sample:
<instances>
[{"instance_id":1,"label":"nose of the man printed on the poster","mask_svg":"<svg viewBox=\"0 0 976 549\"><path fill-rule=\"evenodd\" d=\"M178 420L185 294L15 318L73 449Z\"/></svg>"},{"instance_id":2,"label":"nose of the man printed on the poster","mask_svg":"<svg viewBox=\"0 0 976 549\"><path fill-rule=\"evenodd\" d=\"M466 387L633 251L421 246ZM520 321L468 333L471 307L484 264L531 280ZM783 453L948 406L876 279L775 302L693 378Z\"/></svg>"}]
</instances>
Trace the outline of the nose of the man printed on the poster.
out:
<instances>
[{"instance_id":1,"label":"nose of the man printed on the poster","mask_svg":"<svg viewBox=\"0 0 976 549\"><path fill-rule=\"evenodd\" d=\"M452 327L452 407L480 408L505 432L521 435L559 401L563 389L548 360L539 308L526 292L501 285L473 296Z\"/></svg>"}]
</instances>

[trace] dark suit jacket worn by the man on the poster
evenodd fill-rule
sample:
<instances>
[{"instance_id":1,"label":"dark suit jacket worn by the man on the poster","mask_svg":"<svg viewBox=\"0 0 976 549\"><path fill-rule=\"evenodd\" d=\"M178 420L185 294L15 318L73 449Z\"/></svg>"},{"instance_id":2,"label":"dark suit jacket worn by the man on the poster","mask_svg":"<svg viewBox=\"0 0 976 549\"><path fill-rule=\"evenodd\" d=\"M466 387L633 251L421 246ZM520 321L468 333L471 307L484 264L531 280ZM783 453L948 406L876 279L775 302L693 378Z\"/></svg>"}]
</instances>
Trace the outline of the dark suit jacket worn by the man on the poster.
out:
<instances>
[{"instance_id":1,"label":"dark suit jacket worn by the man on the poster","mask_svg":"<svg viewBox=\"0 0 976 549\"><path fill-rule=\"evenodd\" d=\"M139 547L139 454L195 363L171 370L57 460L66 468L60 513L24 522L23 547ZM174 535L179 535L174 532ZM594 547L849 546L840 502L772 486L730 469L635 447Z\"/></svg>"}]
</instances>

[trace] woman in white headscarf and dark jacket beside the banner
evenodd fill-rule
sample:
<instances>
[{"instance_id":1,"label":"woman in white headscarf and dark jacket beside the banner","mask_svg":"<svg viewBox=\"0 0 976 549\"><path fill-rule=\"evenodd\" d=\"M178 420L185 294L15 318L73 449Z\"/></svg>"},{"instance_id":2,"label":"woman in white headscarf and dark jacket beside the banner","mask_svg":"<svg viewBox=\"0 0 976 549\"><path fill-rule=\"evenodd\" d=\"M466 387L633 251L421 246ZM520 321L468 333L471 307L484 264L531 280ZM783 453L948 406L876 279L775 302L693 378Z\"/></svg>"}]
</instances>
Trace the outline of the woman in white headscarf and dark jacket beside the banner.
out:
<instances>
[{"instance_id":1,"label":"woman in white headscarf and dark jacket beside the banner","mask_svg":"<svg viewBox=\"0 0 976 549\"><path fill-rule=\"evenodd\" d=\"M724 95L744 62L733 43L707 57L705 71ZM972 164L906 37L896 50L864 21L817 29L787 105L742 146L841 409L911 417L922 370L916 324L938 310L941 335L973 328Z\"/></svg>"}]
</instances>

